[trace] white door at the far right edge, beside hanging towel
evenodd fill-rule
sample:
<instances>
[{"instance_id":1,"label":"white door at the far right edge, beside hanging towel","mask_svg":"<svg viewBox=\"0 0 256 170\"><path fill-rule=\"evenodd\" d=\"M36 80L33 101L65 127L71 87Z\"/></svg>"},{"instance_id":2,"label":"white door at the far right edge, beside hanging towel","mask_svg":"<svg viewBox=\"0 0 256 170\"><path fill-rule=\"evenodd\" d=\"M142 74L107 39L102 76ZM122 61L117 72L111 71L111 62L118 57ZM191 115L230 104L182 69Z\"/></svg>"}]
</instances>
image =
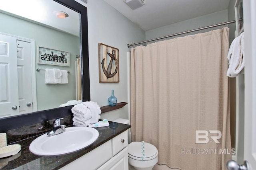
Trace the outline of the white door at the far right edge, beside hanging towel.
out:
<instances>
[{"instance_id":1,"label":"white door at the far right edge, beside hanging towel","mask_svg":"<svg viewBox=\"0 0 256 170\"><path fill-rule=\"evenodd\" d=\"M244 0L244 160L256 170L256 0Z\"/></svg>"}]
</instances>

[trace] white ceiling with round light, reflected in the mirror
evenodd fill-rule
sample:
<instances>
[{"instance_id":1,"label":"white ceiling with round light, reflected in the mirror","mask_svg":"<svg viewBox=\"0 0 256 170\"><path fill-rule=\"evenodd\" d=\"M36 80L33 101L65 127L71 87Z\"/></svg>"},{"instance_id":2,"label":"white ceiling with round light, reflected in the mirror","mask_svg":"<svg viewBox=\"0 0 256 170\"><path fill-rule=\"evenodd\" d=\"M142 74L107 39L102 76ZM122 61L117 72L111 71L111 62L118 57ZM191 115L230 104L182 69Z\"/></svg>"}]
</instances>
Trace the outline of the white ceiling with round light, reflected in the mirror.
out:
<instances>
[{"instance_id":1,"label":"white ceiling with round light, reflected in the mirror","mask_svg":"<svg viewBox=\"0 0 256 170\"><path fill-rule=\"evenodd\" d=\"M54 14L55 11L66 12L68 17L60 19ZM80 35L78 12L70 10L70 8L53 0L5 0L1 2L0 12L64 31L72 35Z\"/></svg>"}]
</instances>

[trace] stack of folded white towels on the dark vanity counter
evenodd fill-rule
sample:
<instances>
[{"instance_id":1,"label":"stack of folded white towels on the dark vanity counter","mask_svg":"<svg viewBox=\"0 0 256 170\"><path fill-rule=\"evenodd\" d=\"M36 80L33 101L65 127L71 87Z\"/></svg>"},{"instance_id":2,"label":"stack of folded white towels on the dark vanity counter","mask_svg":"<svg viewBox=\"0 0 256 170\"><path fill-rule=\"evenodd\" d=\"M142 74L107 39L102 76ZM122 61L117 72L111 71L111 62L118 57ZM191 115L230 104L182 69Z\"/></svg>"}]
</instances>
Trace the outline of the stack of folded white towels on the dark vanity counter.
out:
<instances>
[{"instance_id":1,"label":"stack of folded white towels on the dark vanity counter","mask_svg":"<svg viewBox=\"0 0 256 170\"><path fill-rule=\"evenodd\" d=\"M100 119L101 109L96 102L82 102L71 108L73 117L73 125L88 126L89 124L98 123Z\"/></svg>"}]
</instances>

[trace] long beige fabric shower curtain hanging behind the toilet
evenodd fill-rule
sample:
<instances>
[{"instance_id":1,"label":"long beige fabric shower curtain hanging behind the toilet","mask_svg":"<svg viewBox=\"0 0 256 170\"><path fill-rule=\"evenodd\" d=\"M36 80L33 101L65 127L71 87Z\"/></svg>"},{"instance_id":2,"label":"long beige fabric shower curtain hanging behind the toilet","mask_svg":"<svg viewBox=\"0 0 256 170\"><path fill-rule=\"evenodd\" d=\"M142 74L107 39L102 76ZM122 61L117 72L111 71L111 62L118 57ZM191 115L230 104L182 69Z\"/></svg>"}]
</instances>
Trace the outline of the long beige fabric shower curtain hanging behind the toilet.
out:
<instances>
[{"instance_id":1,"label":"long beige fabric shower curtain hanging behind the toilet","mask_svg":"<svg viewBox=\"0 0 256 170\"><path fill-rule=\"evenodd\" d=\"M158 164L226 169L231 159L228 31L131 48L132 141L155 145Z\"/></svg>"}]
</instances>

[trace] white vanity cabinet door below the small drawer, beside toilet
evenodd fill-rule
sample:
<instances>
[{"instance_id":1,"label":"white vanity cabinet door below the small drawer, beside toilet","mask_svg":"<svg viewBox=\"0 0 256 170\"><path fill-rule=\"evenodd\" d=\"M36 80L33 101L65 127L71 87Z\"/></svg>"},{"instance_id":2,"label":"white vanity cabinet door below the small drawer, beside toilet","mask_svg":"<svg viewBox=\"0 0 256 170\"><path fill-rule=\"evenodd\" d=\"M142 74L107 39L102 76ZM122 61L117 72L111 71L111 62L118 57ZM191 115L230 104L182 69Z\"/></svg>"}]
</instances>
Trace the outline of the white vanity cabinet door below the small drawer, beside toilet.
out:
<instances>
[{"instance_id":1,"label":"white vanity cabinet door below the small drawer, beside toilet","mask_svg":"<svg viewBox=\"0 0 256 170\"><path fill-rule=\"evenodd\" d=\"M125 147L98 170L128 170L128 148Z\"/></svg>"}]
</instances>

